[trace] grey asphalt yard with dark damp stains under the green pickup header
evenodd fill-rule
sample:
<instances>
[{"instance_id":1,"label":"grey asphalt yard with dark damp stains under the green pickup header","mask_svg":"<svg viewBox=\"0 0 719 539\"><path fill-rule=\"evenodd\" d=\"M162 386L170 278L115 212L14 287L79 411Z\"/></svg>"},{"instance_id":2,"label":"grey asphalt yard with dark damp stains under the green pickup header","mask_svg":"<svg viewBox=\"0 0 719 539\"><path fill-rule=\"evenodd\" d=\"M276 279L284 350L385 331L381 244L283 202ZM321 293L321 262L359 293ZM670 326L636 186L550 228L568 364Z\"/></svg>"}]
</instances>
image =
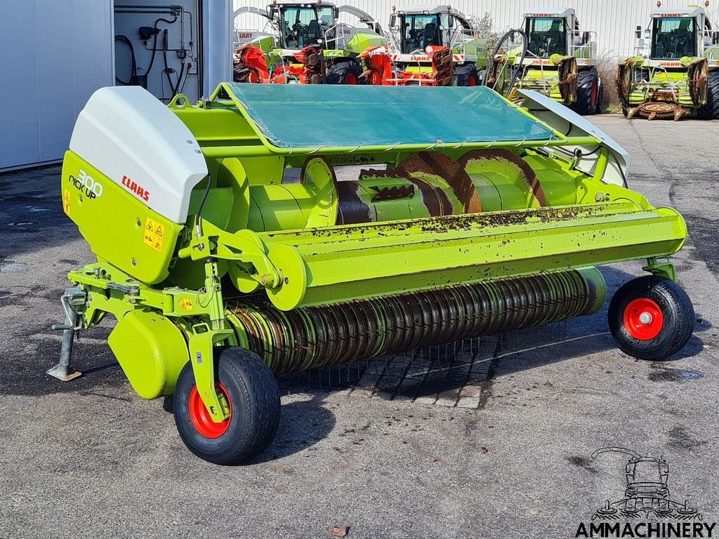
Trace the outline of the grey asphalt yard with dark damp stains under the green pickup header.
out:
<instances>
[{"instance_id":1,"label":"grey asphalt yard with dark damp stains under the green pickup header","mask_svg":"<svg viewBox=\"0 0 719 539\"><path fill-rule=\"evenodd\" d=\"M91 254L58 167L0 175L0 538L569 538L623 497L627 457L590 458L612 446L663 456L672 499L718 520L719 122L594 121L628 149L631 186L687 219L682 352L624 356L602 310L465 344L469 377L456 349L285 377L275 442L234 468L186 450L169 400L134 395L110 325L75 347L82 378L45 375L65 275ZM641 273L603 268L610 294Z\"/></svg>"}]
</instances>

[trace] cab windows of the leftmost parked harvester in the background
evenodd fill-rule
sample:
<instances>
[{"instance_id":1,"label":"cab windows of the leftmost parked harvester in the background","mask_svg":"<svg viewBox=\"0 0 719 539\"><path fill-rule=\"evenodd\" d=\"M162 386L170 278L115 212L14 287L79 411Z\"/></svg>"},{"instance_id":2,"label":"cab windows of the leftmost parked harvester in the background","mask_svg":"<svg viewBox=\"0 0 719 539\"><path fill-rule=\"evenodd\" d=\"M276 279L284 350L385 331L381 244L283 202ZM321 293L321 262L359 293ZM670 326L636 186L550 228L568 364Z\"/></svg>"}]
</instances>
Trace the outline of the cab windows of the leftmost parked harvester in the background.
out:
<instances>
[{"instance_id":1,"label":"cab windows of the leftmost parked harvester in the background","mask_svg":"<svg viewBox=\"0 0 719 539\"><path fill-rule=\"evenodd\" d=\"M331 6L288 6L280 11L280 32L283 47L302 49L324 42L325 32L334 26ZM330 37L330 36L328 36ZM334 42L329 42L329 48Z\"/></svg>"}]
</instances>

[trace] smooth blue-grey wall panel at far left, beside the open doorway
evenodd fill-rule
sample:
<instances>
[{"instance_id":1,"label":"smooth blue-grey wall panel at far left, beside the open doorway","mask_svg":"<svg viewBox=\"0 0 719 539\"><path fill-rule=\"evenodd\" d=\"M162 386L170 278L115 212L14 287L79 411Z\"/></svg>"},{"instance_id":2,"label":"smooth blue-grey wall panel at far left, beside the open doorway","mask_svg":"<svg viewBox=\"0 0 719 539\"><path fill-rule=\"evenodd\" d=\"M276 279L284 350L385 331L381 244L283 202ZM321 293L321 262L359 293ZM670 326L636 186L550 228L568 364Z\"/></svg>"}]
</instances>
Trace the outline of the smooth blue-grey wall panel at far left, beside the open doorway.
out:
<instances>
[{"instance_id":1,"label":"smooth blue-grey wall panel at far left, beside the open doorway","mask_svg":"<svg viewBox=\"0 0 719 539\"><path fill-rule=\"evenodd\" d=\"M0 170L58 160L114 81L111 0L0 0Z\"/></svg>"}]
</instances>

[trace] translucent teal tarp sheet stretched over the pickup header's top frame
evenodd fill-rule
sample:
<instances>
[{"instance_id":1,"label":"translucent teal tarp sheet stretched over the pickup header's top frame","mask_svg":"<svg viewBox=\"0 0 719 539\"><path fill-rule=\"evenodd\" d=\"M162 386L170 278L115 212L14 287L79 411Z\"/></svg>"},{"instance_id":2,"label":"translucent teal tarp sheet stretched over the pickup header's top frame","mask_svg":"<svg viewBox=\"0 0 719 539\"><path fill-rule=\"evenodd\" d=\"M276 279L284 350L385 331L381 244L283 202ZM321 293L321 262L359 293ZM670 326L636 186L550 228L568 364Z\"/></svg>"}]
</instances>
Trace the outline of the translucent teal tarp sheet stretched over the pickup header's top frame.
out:
<instances>
[{"instance_id":1,"label":"translucent teal tarp sheet stretched over the pickup header's top frame","mask_svg":"<svg viewBox=\"0 0 719 539\"><path fill-rule=\"evenodd\" d=\"M489 88L229 83L279 148L550 140Z\"/></svg>"}]
</instances>

